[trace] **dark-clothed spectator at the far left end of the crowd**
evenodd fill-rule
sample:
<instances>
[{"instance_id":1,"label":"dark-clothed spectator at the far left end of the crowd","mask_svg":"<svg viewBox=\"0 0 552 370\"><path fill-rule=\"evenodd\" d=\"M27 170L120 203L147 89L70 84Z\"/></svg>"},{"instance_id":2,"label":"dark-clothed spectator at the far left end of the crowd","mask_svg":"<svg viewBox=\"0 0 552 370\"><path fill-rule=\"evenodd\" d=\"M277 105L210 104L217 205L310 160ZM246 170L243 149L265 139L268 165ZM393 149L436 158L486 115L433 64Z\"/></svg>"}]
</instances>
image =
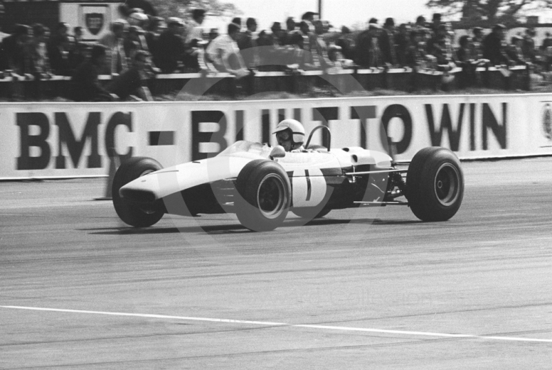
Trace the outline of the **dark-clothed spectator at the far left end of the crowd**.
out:
<instances>
[{"instance_id":1,"label":"dark-clothed spectator at the far left end of the crowd","mask_svg":"<svg viewBox=\"0 0 552 370\"><path fill-rule=\"evenodd\" d=\"M12 70L15 74L26 74L28 65L28 49L26 44L32 35L28 25L15 25L14 34L2 40L2 54L4 56L6 70Z\"/></svg>"}]
</instances>

